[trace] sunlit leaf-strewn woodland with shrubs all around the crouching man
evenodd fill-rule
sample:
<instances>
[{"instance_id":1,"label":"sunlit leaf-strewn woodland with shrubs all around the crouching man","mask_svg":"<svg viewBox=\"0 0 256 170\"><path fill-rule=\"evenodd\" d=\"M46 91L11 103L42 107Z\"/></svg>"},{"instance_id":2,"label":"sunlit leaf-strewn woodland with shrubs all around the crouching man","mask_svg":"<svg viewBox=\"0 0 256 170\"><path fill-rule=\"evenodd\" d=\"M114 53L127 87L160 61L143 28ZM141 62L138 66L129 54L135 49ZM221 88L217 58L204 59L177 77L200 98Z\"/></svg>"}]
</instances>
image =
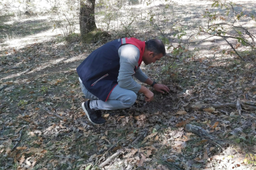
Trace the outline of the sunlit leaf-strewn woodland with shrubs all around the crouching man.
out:
<instances>
[{"instance_id":1,"label":"sunlit leaf-strewn woodland with shrubs all around the crouching man","mask_svg":"<svg viewBox=\"0 0 256 170\"><path fill-rule=\"evenodd\" d=\"M0 2L0 169L256 169L255 2L100 0L83 34L94 2ZM76 67L122 37L163 40L171 91L95 126Z\"/></svg>"}]
</instances>

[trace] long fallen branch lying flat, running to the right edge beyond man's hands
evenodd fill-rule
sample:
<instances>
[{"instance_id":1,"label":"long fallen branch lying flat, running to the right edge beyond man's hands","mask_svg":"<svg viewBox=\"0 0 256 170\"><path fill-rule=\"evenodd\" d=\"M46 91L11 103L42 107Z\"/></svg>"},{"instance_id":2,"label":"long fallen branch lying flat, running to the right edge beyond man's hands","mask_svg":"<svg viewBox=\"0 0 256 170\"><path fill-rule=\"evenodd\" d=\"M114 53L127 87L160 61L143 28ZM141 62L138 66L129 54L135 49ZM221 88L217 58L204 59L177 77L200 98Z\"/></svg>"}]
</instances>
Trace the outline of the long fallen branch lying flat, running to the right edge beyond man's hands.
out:
<instances>
[{"instance_id":1,"label":"long fallen branch lying flat, running to the right edge beyond man's hands","mask_svg":"<svg viewBox=\"0 0 256 170\"><path fill-rule=\"evenodd\" d=\"M188 105L186 106L186 110L199 110L199 111L203 111L205 108L236 108L238 110L238 112L240 113L241 108L243 108L244 110L256 110L256 102L255 101L244 101L244 100L240 100L238 99L238 101L234 102L234 103L225 103L225 104L203 104L203 103L198 103L198 104L192 104L192 105Z\"/></svg>"}]
</instances>

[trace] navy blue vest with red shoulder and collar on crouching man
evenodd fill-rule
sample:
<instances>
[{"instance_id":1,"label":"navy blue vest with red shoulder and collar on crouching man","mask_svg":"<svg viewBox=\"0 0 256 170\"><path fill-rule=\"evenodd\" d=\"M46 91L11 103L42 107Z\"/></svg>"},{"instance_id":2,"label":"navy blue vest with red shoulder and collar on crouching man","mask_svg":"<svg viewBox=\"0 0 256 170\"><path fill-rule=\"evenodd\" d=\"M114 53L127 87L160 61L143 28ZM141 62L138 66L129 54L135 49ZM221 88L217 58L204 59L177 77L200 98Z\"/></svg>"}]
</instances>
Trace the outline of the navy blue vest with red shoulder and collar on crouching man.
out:
<instances>
[{"instance_id":1,"label":"navy blue vest with red shoulder and collar on crouching man","mask_svg":"<svg viewBox=\"0 0 256 170\"><path fill-rule=\"evenodd\" d=\"M85 88L102 101L107 101L113 88L118 84L120 68L118 49L125 43L131 43L139 48L139 65L141 65L145 42L136 38L120 38L94 50L76 69Z\"/></svg>"}]
</instances>

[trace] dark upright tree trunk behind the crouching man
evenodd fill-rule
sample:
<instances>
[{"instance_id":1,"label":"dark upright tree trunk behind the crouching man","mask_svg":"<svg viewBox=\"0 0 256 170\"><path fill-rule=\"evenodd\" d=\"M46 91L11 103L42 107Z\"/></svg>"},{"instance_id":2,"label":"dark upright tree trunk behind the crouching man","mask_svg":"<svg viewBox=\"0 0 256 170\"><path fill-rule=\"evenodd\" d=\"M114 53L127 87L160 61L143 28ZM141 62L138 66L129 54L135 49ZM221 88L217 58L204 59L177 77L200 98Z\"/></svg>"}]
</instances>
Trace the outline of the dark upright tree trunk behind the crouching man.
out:
<instances>
[{"instance_id":1,"label":"dark upright tree trunk behind the crouching man","mask_svg":"<svg viewBox=\"0 0 256 170\"><path fill-rule=\"evenodd\" d=\"M95 0L81 0L79 25L81 37L96 29Z\"/></svg>"}]
</instances>

